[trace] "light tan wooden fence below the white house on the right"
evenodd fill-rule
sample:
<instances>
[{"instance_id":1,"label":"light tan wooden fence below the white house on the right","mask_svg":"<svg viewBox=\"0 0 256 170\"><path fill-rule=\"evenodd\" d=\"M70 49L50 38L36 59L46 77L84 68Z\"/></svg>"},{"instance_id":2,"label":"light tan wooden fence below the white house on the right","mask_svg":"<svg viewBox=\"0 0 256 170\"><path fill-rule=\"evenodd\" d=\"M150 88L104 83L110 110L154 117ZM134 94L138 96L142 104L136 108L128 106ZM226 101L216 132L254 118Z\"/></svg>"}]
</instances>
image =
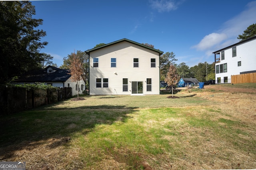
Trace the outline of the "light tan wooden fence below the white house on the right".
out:
<instances>
[{"instance_id":1,"label":"light tan wooden fence below the white house on the right","mask_svg":"<svg viewBox=\"0 0 256 170\"><path fill-rule=\"evenodd\" d=\"M256 83L256 72L231 76L231 83Z\"/></svg>"}]
</instances>

